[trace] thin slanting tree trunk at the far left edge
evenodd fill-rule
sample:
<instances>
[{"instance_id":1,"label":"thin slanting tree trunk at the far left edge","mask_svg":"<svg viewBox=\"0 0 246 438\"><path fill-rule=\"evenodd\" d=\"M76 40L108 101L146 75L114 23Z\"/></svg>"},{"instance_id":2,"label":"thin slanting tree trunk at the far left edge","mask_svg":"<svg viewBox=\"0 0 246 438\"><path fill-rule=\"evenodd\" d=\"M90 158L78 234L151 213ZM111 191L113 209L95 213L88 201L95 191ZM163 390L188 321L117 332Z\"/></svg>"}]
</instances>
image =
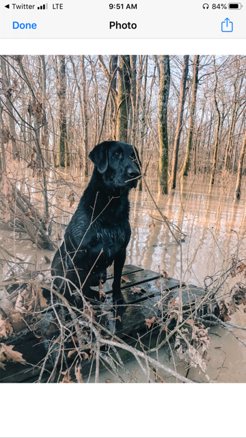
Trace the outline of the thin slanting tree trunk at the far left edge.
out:
<instances>
[{"instance_id":1,"label":"thin slanting tree trunk at the far left edge","mask_svg":"<svg viewBox=\"0 0 246 438\"><path fill-rule=\"evenodd\" d=\"M9 125L10 125L10 136L11 136L11 143L12 143L12 157L13 157L13 159L16 159L16 157L18 156L18 149L17 149L17 145L16 145L16 131L15 131L15 126L14 126L13 105L12 105L12 99L11 99L12 90L10 88L10 79L8 77L8 74L7 74L6 62L5 62L5 59L3 58L3 56L1 56L1 70L2 70L2 74L3 74L2 88L9 89L9 91L6 94L6 106L8 109L8 120L9 120Z\"/></svg>"}]
</instances>

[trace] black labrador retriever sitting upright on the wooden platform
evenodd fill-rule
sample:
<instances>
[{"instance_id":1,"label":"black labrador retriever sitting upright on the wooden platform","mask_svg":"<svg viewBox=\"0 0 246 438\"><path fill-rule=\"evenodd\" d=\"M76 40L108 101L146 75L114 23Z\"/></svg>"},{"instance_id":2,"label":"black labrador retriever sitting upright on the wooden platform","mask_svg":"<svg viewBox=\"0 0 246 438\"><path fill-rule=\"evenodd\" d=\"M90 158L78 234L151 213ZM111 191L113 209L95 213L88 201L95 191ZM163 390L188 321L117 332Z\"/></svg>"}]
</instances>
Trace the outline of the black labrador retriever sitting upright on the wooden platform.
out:
<instances>
[{"instance_id":1,"label":"black labrador retriever sitting upright on the wooden platform","mask_svg":"<svg viewBox=\"0 0 246 438\"><path fill-rule=\"evenodd\" d=\"M94 298L91 286L105 283L106 270L114 262L113 300L120 302L122 268L131 237L128 194L141 176L139 156L136 159L130 144L111 141L95 146L89 158L94 163L92 178L55 253L51 274L66 277L79 289L83 286L83 294ZM55 279L60 292L70 299L67 283Z\"/></svg>"}]
</instances>

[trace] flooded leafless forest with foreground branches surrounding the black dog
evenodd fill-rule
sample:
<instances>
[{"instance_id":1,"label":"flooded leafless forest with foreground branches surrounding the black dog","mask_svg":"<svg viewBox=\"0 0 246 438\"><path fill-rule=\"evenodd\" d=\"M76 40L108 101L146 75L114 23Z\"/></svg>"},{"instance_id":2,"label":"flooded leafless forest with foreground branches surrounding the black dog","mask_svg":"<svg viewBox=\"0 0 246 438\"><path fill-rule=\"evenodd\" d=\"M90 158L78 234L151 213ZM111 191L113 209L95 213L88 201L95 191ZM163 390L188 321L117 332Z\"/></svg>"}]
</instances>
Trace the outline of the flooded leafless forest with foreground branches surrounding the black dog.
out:
<instances>
[{"instance_id":1,"label":"flooded leafless forest with foreground branches surrounding the black dog","mask_svg":"<svg viewBox=\"0 0 246 438\"><path fill-rule=\"evenodd\" d=\"M1 55L0 71L0 382L246 382L246 57ZM103 287L71 304L51 276L106 140L139 153L125 264L160 291L122 306L143 318L124 337Z\"/></svg>"}]
</instances>

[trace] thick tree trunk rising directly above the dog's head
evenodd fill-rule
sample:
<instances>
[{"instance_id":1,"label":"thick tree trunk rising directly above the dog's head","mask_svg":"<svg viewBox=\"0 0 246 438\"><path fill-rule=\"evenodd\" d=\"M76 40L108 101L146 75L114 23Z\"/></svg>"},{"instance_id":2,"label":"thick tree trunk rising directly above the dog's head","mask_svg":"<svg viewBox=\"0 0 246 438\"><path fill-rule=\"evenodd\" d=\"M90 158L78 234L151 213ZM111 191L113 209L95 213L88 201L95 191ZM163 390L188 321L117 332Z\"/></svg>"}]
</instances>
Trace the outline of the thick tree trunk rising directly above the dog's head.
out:
<instances>
[{"instance_id":1,"label":"thick tree trunk rising directly above the dog's head","mask_svg":"<svg viewBox=\"0 0 246 438\"><path fill-rule=\"evenodd\" d=\"M130 57L129 55L120 55L116 139L125 143L128 142L130 86Z\"/></svg>"}]
</instances>

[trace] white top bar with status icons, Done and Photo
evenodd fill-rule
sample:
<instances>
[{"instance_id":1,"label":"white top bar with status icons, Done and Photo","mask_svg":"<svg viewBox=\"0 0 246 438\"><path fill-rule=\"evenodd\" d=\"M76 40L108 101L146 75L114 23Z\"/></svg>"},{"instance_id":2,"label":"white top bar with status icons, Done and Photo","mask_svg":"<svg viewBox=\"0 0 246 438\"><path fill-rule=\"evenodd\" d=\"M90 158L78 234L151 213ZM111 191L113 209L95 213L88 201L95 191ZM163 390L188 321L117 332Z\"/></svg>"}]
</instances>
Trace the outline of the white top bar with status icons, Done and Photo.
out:
<instances>
[{"instance_id":1,"label":"white top bar with status icons, Done and Photo","mask_svg":"<svg viewBox=\"0 0 246 438\"><path fill-rule=\"evenodd\" d=\"M246 3L2 0L0 8L0 38L246 38Z\"/></svg>"}]
</instances>

